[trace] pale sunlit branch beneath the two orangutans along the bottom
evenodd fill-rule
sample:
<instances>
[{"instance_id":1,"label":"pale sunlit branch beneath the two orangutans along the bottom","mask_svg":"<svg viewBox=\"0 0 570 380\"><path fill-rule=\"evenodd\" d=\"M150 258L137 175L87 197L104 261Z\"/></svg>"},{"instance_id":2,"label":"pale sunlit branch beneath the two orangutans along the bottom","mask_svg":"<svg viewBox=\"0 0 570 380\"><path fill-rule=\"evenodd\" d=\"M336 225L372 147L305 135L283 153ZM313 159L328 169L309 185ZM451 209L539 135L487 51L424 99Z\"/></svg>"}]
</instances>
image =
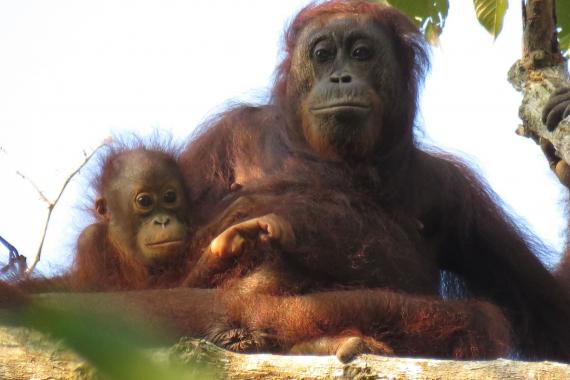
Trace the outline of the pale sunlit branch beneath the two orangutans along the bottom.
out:
<instances>
[{"instance_id":1,"label":"pale sunlit branch beneath the two orangutans along the bottom","mask_svg":"<svg viewBox=\"0 0 570 380\"><path fill-rule=\"evenodd\" d=\"M349 364L333 356L243 355L199 340L149 351L157 363L198 360L231 379L568 379L570 366L512 360L453 361L363 355ZM196 359L198 358L198 359ZM96 371L61 344L24 329L0 328L0 378L94 379Z\"/></svg>"}]
</instances>

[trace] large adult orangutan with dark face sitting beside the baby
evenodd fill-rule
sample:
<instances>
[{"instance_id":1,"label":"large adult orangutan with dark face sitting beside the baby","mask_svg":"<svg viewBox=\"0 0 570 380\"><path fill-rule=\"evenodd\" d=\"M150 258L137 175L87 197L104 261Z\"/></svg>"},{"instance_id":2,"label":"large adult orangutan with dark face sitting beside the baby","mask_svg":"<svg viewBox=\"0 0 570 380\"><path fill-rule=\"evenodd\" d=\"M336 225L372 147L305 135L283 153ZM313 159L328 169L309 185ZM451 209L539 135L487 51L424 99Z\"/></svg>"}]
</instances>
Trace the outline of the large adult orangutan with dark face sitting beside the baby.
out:
<instances>
[{"instance_id":1,"label":"large adult orangutan with dark face sitting beside the baby","mask_svg":"<svg viewBox=\"0 0 570 380\"><path fill-rule=\"evenodd\" d=\"M258 206L202 261L263 258L264 245L248 242L271 240L284 221L295 239L274 247L280 263L253 269L245 299L227 301L241 325L307 336L350 318L400 355L494 357L510 347L569 360L570 295L540 262L540 246L470 168L414 140L427 67L422 36L395 9L332 0L301 10L269 103L219 115L183 153L202 222L235 189L294 179L273 198L253 194ZM307 282L281 283L283 268ZM468 300L439 297L442 271L455 279L443 286ZM352 290L309 293L323 289ZM375 311L340 311L355 300L374 300ZM319 320L327 311L337 317Z\"/></svg>"}]
</instances>

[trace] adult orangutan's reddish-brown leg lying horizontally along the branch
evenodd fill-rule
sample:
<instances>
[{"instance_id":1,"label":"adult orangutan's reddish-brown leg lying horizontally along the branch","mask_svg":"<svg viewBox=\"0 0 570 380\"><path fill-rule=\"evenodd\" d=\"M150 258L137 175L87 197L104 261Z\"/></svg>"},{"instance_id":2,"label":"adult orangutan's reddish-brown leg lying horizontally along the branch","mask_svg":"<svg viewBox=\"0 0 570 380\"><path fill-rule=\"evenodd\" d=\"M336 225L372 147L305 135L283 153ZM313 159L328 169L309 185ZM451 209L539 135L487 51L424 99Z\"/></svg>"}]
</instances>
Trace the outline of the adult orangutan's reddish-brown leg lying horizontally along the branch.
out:
<instances>
[{"instance_id":1,"label":"adult orangutan's reddish-brown leg lying horizontally along the branch","mask_svg":"<svg viewBox=\"0 0 570 380\"><path fill-rule=\"evenodd\" d=\"M508 321L482 301L442 301L383 289L288 297L227 292L224 297L232 319L267 331L282 347L354 329L396 355L496 358L510 347Z\"/></svg>"}]
</instances>

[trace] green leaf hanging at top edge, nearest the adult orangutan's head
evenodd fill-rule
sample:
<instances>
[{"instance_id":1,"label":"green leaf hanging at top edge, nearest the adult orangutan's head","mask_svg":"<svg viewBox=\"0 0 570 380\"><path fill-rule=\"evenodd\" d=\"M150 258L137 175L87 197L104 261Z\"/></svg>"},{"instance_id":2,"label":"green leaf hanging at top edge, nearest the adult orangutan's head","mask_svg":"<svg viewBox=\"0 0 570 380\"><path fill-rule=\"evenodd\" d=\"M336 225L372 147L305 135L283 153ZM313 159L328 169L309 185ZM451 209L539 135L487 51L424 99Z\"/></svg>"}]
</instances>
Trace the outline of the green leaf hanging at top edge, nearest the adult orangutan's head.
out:
<instances>
[{"instance_id":1,"label":"green leaf hanging at top edge, nearest the adult orangutan's head","mask_svg":"<svg viewBox=\"0 0 570 380\"><path fill-rule=\"evenodd\" d=\"M429 43L437 43L449 11L448 0L388 0L387 3L410 17Z\"/></svg>"}]
</instances>

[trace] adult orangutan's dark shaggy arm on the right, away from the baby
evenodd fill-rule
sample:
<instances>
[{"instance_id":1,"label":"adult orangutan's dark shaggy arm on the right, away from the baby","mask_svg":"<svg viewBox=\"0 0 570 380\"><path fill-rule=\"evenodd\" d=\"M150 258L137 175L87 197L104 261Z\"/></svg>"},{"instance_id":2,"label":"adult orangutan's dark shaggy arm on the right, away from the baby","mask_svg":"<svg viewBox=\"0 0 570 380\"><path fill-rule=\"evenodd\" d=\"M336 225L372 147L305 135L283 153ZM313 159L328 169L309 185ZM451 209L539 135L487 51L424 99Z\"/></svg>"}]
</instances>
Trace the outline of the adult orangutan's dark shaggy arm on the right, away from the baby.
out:
<instances>
[{"instance_id":1,"label":"adult orangutan's dark shaggy arm on the right, away from the baby","mask_svg":"<svg viewBox=\"0 0 570 380\"><path fill-rule=\"evenodd\" d=\"M570 294L541 263L541 245L499 206L465 165L438 160L447 183L444 269L460 275L475 297L501 305L523 356L570 358ZM442 175L443 174L443 175ZM484 275L483 275L484 274Z\"/></svg>"}]
</instances>

